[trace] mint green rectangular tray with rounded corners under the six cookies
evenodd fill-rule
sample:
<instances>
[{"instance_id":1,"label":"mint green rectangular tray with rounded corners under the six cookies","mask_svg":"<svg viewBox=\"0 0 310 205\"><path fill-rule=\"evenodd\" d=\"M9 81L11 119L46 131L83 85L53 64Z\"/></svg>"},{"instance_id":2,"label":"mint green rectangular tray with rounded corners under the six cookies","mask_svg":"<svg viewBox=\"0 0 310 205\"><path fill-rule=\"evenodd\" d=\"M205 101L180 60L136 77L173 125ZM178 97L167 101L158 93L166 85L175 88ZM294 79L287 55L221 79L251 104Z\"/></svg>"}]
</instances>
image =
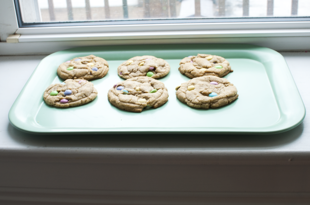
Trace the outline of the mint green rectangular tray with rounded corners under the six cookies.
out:
<instances>
[{"instance_id":1,"label":"mint green rectangular tray with rounded corners under the six cookies","mask_svg":"<svg viewBox=\"0 0 310 205\"><path fill-rule=\"evenodd\" d=\"M239 98L216 109L195 109L180 102L175 87L189 80L178 68L182 58L197 53L226 58L234 70L225 78L238 89ZM64 61L93 54L106 59L109 72L92 81L98 90L94 101L79 107L57 108L43 101L44 90L62 82L56 69ZM163 58L170 73L159 79L169 100L157 109L133 113L108 101L108 90L123 79L117 66L142 55ZM126 45L72 48L45 57L34 70L9 112L10 122L32 133L255 133L290 130L302 122L305 107L294 79L278 52L244 44Z\"/></svg>"}]
</instances>

